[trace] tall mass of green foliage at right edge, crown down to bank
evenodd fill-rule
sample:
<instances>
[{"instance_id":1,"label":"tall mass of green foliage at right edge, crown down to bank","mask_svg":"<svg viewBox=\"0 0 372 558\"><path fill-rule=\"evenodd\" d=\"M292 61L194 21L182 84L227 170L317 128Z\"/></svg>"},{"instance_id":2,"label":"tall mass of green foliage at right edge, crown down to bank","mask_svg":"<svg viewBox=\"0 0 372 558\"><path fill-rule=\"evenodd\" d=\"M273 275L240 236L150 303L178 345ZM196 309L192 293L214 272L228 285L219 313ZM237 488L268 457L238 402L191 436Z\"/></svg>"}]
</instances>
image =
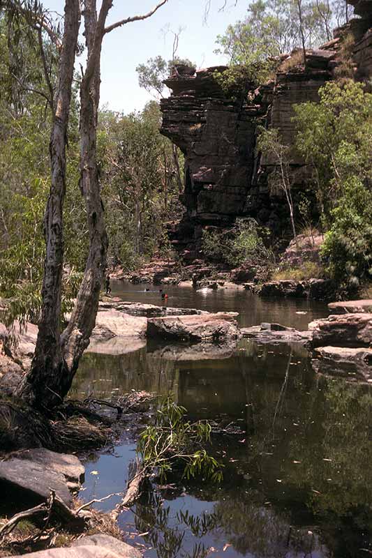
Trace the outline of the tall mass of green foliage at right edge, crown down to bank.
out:
<instances>
[{"instance_id":1,"label":"tall mass of green foliage at right edge, crown down to bank","mask_svg":"<svg viewBox=\"0 0 372 558\"><path fill-rule=\"evenodd\" d=\"M327 272L345 288L372 272L372 94L360 83L329 82L320 103L295 107L297 149L314 169Z\"/></svg>"}]
</instances>

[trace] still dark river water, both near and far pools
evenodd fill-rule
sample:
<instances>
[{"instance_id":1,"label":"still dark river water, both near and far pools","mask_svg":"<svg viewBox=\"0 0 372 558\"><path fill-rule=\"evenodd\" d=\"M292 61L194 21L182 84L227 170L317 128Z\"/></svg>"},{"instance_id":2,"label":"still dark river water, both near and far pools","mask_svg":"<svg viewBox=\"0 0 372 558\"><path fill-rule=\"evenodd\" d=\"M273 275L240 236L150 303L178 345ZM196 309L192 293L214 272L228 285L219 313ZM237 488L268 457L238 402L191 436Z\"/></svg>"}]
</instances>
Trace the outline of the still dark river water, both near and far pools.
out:
<instances>
[{"instance_id":1,"label":"still dark river water, both near and far pools","mask_svg":"<svg viewBox=\"0 0 372 558\"><path fill-rule=\"evenodd\" d=\"M127 301L161 303L158 290L114 284ZM246 292L167 287L168 306L234 310L241 325L305 329L327 315L307 301L262 301ZM300 312L300 313L297 313ZM208 355L206 355L208 356ZM322 377L298 345L256 345L193 360L189 349L147 345L124 354L87 353L75 395L131 389L171 394L191 418L234 425L215 436L225 464L220 486L165 485L122 513L128 542L145 557L348 558L372 554L372 397L369 386ZM124 435L85 463L84 499L121 492L135 441ZM171 483L171 481L170 481ZM109 510L113 497L98 504Z\"/></svg>"}]
</instances>

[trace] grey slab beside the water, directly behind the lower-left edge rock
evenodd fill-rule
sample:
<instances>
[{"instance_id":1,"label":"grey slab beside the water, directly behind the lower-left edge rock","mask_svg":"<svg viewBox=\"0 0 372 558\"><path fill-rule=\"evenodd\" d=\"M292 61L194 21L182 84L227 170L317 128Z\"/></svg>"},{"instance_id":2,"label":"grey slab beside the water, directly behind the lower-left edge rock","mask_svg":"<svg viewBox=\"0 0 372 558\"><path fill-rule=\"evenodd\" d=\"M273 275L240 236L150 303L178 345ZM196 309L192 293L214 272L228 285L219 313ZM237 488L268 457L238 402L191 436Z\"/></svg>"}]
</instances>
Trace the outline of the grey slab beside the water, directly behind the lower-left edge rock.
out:
<instances>
[{"instance_id":1,"label":"grey slab beside the water, directly behind the lower-left edge rock","mask_svg":"<svg viewBox=\"0 0 372 558\"><path fill-rule=\"evenodd\" d=\"M24 459L39 463L57 474L61 474L71 483L84 482L85 467L76 455L57 453L45 448L31 448L16 451L11 458Z\"/></svg>"}]
</instances>

